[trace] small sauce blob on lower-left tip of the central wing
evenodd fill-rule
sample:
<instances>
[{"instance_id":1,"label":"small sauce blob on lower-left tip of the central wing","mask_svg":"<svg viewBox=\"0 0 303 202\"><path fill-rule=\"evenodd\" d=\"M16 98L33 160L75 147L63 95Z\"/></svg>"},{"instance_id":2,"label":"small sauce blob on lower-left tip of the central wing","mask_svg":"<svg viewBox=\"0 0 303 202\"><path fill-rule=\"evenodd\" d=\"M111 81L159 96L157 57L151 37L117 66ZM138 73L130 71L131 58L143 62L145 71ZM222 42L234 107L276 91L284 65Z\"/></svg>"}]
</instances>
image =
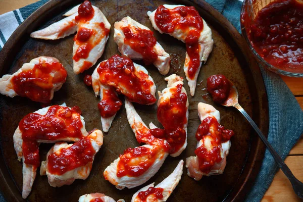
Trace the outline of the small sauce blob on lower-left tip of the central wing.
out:
<instances>
[{"instance_id":1,"label":"small sauce blob on lower-left tip of the central wing","mask_svg":"<svg viewBox=\"0 0 303 202\"><path fill-rule=\"evenodd\" d=\"M122 102L113 88L103 91L103 98L98 104L100 115L103 118L114 116L121 108Z\"/></svg>"}]
</instances>

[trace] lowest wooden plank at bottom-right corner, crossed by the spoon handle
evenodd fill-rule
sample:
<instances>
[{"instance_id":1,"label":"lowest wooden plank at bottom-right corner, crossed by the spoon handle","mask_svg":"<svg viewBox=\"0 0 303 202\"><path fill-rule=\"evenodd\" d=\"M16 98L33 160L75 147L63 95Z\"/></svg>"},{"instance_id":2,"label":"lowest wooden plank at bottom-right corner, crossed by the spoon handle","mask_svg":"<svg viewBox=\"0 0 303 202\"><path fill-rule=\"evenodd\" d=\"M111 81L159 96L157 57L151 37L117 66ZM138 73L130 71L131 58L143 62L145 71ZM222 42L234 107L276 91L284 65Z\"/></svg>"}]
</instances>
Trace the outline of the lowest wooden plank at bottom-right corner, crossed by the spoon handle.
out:
<instances>
[{"instance_id":1,"label":"lowest wooden plank at bottom-right corner, crossed by the spoon handle","mask_svg":"<svg viewBox=\"0 0 303 202\"><path fill-rule=\"evenodd\" d=\"M293 175L298 180L303 181L302 172L303 156L288 156L285 163L288 165ZM273 201L301 201L299 197L293 192L292 186L284 173L279 170L274 177L273 183L265 193L262 202Z\"/></svg>"}]
</instances>

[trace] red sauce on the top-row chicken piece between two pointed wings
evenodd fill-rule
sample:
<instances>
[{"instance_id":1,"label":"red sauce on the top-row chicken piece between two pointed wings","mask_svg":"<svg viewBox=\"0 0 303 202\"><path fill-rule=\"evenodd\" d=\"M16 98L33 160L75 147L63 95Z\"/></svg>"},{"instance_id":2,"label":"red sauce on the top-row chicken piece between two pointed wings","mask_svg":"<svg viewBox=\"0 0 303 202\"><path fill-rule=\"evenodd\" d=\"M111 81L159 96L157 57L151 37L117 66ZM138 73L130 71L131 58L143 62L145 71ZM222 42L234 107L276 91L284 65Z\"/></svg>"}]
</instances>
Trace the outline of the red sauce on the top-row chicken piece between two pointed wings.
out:
<instances>
[{"instance_id":1,"label":"red sauce on the top-row chicken piece between two pointed wings","mask_svg":"<svg viewBox=\"0 0 303 202\"><path fill-rule=\"evenodd\" d=\"M154 51L157 40L152 31L130 25L121 27L121 29L125 35L124 43L129 45L135 52L141 54L146 65L157 60L158 55Z\"/></svg>"}]
</instances>

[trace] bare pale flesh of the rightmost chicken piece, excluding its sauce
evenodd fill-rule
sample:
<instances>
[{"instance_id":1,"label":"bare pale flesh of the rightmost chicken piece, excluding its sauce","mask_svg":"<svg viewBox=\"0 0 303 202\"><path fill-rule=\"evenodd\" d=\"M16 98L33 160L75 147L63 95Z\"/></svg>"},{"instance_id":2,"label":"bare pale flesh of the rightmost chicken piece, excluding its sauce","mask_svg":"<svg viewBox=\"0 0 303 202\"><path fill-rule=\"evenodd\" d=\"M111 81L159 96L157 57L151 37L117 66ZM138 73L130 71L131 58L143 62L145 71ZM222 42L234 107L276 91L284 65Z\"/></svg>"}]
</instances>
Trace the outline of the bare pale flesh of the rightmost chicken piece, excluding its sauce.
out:
<instances>
[{"instance_id":1,"label":"bare pale flesh of the rightmost chicken piece, excluding its sauce","mask_svg":"<svg viewBox=\"0 0 303 202\"><path fill-rule=\"evenodd\" d=\"M205 103L198 104L198 116L201 122L211 117L216 119L217 122L220 123L220 112L216 110L213 106ZM215 131L216 129L210 126L210 131L211 130ZM198 141L196 147L205 148L207 151L211 151L212 149L214 149L212 141L213 141L212 137L206 135ZM200 162L197 156L186 158L187 175L189 177L194 178L195 180L200 180L204 175L210 176L210 175L222 174L226 166L226 157L228 156L230 146L231 146L230 140L222 142L220 144L219 154L222 160L220 162L216 162L211 167L209 172L203 172L200 170L199 168Z\"/></svg>"}]
</instances>

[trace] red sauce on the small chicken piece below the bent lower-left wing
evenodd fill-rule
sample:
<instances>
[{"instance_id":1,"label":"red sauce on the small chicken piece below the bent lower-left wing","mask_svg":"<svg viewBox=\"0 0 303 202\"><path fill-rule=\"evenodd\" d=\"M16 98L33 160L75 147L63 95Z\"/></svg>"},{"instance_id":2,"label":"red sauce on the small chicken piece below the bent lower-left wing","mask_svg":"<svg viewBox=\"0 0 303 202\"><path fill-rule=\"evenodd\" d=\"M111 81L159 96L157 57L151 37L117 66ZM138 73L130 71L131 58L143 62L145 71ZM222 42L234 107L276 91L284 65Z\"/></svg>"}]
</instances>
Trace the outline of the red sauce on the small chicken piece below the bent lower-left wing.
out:
<instances>
[{"instance_id":1,"label":"red sauce on the small chicken piece below the bent lower-left wing","mask_svg":"<svg viewBox=\"0 0 303 202\"><path fill-rule=\"evenodd\" d=\"M62 148L59 155L53 153L48 156L47 171L52 174L62 175L67 171L85 166L93 161L95 150L88 137L75 142L69 148Z\"/></svg>"}]
</instances>

